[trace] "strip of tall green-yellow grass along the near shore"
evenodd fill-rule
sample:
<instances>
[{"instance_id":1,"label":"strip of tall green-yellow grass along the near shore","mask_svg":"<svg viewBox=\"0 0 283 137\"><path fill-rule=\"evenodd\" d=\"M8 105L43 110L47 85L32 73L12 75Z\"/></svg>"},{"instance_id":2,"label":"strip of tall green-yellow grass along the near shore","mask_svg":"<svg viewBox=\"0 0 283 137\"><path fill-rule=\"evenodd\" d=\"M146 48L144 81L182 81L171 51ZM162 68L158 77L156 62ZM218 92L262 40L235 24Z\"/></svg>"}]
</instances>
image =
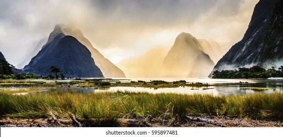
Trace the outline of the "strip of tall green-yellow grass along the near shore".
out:
<instances>
[{"instance_id":1,"label":"strip of tall green-yellow grass along the near shore","mask_svg":"<svg viewBox=\"0 0 283 137\"><path fill-rule=\"evenodd\" d=\"M45 118L52 115L115 122L116 118L161 117L167 124L186 121L186 115L237 115L283 121L283 93L213 96L147 92L80 92L52 90L27 95L0 92L0 116Z\"/></svg>"}]
</instances>

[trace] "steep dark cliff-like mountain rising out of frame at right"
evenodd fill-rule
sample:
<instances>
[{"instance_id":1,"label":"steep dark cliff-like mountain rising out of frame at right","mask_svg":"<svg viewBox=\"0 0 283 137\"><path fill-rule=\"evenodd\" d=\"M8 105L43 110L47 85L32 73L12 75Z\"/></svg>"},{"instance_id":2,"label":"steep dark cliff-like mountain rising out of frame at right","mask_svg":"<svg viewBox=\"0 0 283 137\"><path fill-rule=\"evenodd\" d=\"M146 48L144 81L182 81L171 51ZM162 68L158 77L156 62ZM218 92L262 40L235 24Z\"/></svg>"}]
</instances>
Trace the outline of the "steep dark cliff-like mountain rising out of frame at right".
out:
<instances>
[{"instance_id":1,"label":"steep dark cliff-like mountain rising out of frame at right","mask_svg":"<svg viewBox=\"0 0 283 137\"><path fill-rule=\"evenodd\" d=\"M283 65L283 0L259 0L241 41L217 62L214 70Z\"/></svg>"}]
</instances>

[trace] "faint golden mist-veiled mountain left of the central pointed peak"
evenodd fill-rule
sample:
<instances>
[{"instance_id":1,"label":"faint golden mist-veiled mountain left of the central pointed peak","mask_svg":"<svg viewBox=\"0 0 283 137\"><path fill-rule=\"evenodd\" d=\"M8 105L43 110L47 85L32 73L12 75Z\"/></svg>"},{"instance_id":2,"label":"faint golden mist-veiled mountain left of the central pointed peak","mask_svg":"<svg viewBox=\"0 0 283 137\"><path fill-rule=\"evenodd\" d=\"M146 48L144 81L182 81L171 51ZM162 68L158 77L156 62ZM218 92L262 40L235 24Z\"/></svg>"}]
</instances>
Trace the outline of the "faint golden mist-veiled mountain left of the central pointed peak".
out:
<instances>
[{"instance_id":1,"label":"faint golden mist-veiled mountain left of the central pointed peak","mask_svg":"<svg viewBox=\"0 0 283 137\"><path fill-rule=\"evenodd\" d=\"M127 77L160 77L168 50L166 47L156 46L146 53L124 59L116 65L123 70Z\"/></svg>"}]
</instances>

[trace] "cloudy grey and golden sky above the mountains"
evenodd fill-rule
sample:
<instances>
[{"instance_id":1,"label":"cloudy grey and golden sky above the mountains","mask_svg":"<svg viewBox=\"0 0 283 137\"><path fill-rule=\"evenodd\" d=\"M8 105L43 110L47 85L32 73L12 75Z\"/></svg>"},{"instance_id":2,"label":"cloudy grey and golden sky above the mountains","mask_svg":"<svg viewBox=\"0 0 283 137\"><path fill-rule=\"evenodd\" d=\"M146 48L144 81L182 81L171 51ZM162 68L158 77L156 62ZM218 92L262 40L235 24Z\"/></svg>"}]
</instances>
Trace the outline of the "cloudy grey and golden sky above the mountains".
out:
<instances>
[{"instance_id":1,"label":"cloudy grey and golden sky above the mountains","mask_svg":"<svg viewBox=\"0 0 283 137\"><path fill-rule=\"evenodd\" d=\"M0 0L0 51L16 68L56 24L72 24L114 64L182 32L233 46L259 0ZM31 58L28 58L30 61ZM28 61L28 62L29 62Z\"/></svg>"}]
</instances>

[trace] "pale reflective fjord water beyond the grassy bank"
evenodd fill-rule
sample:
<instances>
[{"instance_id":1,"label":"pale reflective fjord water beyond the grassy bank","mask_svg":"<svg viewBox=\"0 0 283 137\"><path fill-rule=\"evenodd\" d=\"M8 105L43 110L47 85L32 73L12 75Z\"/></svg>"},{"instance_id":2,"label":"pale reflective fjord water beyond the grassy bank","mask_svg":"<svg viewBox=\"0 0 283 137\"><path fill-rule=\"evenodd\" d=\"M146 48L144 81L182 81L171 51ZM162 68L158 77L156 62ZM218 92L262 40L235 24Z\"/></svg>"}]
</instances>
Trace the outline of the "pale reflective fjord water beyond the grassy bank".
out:
<instances>
[{"instance_id":1,"label":"pale reflective fjord water beyond the grassy bank","mask_svg":"<svg viewBox=\"0 0 283 137\"><path fill-rule=\"evenodd\" d=\"M113 79L116 81L115 79ZM107 80L113 82L113 80ZM220 84L220 86L204 87L176 87L176 88L143 88L135 87L110 87L110 88L90 88L84 91L145 91L151 93L175 92L175 93L208 93L213 95L236 95L251 94L257 92L273 93L283 91L283 80L251 80L251 79L210 79L210 78L123 78L120 82L130 82L142 80L150 82L153 80L163 80L167 82L186 80L187 83ZM223 84L221 86L221 84ZM228 84L228 85L227 85Z\"/></svg>"}]
</instances>

